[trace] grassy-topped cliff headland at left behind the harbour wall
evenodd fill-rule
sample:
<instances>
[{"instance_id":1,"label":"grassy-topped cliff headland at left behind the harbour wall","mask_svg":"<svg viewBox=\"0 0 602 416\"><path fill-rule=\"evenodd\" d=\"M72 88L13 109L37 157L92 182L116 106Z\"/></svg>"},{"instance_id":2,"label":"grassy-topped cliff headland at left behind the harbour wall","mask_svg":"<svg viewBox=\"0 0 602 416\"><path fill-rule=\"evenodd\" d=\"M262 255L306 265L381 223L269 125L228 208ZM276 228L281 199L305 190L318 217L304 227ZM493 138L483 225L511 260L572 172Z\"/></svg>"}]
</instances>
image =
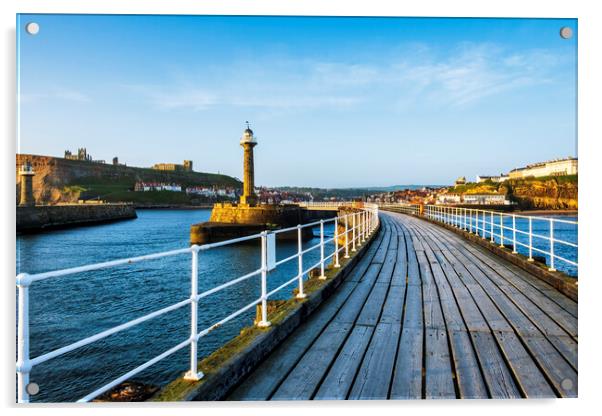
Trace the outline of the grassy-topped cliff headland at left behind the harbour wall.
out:
<instances>
[{"instance_id":1,"label":"grassy-topped cliff headland at left behind the harbour wall","mask_svg":"<svg viewBox=\"0 0 602 416\"><path fill-rule=\"evenodd\" d=\"M18 172L26 161L31 163L35 172L33 193L38 204L76 202L80 198L96 196L103 199L106 195L111 194L119 195L119 200L127 201L127 193L134 188L137 181L173 182L182 186L218 185L235 188L241 186L239 180L226 175L201 172L165 172L51 156L19 154L16 157L17 202L20 191ZM123 196L124 194L125 196Z\"/></svg>"}]
</instances>

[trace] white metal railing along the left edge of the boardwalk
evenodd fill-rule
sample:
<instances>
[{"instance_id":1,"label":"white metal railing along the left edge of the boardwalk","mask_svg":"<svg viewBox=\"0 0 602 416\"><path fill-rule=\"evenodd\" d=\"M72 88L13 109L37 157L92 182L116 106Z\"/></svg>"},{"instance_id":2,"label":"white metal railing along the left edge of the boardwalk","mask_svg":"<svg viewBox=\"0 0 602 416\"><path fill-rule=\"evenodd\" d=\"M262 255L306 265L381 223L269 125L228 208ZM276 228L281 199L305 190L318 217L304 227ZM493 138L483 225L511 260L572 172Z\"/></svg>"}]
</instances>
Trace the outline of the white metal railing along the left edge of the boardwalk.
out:
<instances>
[{"instance_id":1,"label":"white metal railing along the left edge of the boardwalk","mask_svg":"<svg viewBox=\"0 0 602 416\"><path fill-rule=\"evenodd\" d=\"M332 238L326 239L324 236L324 224L334 223L334 236ZM36 273L36 274L27 274L20 273L16 278L16 283L19 291L19 300L18 300L18 329L17 329L17 396L19 403L27 403L30 400L30 394L28 392L29 385L29 375L32 368L36 365L49 361L53 358L59 357L63 354L81 348L85 345L91 344L93 342L99 341L108 337L109 335L116 334L118 332L124 331L126 329L132 328L136 325L139 325L143 322L149 321L153 318L159 317L166 313L175 311L177 309L186 307L190 305L190 337L169 350L155 356L154 358L148 360L144 364L132 369L131 371L123 374L122 376L114 379L113 381L105 384L104 386L94 390L93 392L87 394L82 397L79 402L88 402L100 394L110 390L111 388L117 386L123 381L131 378L132 376L142 372L143 370L149 368L155 363L163 360L164 358L174 354L175 352L190 346L190 369L186 373L185 378L188 380L199 380L203 377L202 372L197 368L198 363L198 342L200 338L207 335L213 329L225 324L226 322L236 318L242 313L248 311L249 309L255 307L256 305L261 304L261 320L256 323L259 327L268 327L270 326L270 322L267 317L267 301L268 299L284 289L285 287L297 282L298 285L298 293L297 298L303 299L306 297L306 294L303 289L303 278L306 276L312 269L320 267L320 279L326 279L325 276L325 263L330 259L333 259L334 267L340 267L340 255L343 255L343 258L349 258L350 252L354 252L357 250L363 242L367 240L370 234L376 229L378 226L378 207L374 204L363 204L361 209L358 209L355 212L336 216L327 220L319 220L309 224L297 225L296 227L290 227L285 229L280 229L276 231L263 231L259 234L254 234L247 237L236 238L228 241L222 241L218 243L204 244L204 245L193 245L191 247L182 248L179 250L166 251L162 253L154 253L144 256L119 259L113 261L107 261L103 263L89 264L85 266L72 267L68 269L62 270L54 270L50 272L44 273ZM344 231L339 232L339 225L341 228L344 226ZM309 248L303 249L302 245L302 230L307 227L320 227L320 242L315 244ZM297 232L297 245L298 250L297 253L284 258L282 260L276 260L276 236L278 234L284 232ZM198 278L199 278L199 253L202 251L211 250L217 247L224 247L227 245L232 245L236 243L241 243L245 241L251 240L259 240L261 243L261 266L259 269L254 270L250 273L247 273L243 276L237 277L233 280L230 280L222 285L216 286L212 289L206 290L202 293L198 293ZM339 241L343 242L340 243ZM329 243L334 243L334 248L332 253L326 255L325 248ZM320 260L313 264L308 268L303 268L303 256L312 250L320 250ZM164 257L172 257L172 256L181 256L181 255L190 255L191 256L191 288L190 293L188 294L189 298L184 299L178 303L173 305L164 307L162 309L151 312L147 315L138 317L121 325L115 326L113 328L107 329L105 331L96 333L87 338L81 339L79 341L73 342L64 347L55 349L53 351L46 352L42 355L39 355L35 358L31 358L29 354L29 344L30 344L30 332L29 332L29 288L32 284L46 280L46 279L54 279L60 278L63 276L73 275L81 272L95 271L100 269L107 269L116 266L129 265L133 263L144 262L148 260L160 259ZM268 272L276 269L278 266L287 263L289 261L298 260L298 270L297 274L293 276L291 279L287 280L285 283L278 286L276 289L268 292L267 287L267 275ZM253 300L251 303L246 306L238 309L237 311L231 313L227 317L215 322L209 327L199 331L198 329L198 303L199 300L210 296L214 293L220 292L227 287L235 285L237 283L241 283L251 277L261 276L261 295L259 298Z\"/></svg>"}]
</instances>

